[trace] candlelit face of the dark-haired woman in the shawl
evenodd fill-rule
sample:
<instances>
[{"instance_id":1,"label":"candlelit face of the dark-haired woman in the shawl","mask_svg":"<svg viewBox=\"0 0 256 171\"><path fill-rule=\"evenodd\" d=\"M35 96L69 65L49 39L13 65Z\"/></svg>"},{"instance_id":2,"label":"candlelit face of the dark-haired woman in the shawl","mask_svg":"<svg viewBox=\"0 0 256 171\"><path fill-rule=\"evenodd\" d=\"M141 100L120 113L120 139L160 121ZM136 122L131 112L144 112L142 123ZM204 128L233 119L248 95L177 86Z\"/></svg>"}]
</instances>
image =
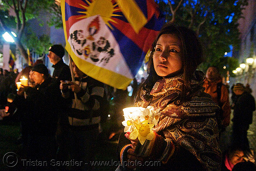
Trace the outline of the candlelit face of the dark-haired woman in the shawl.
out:
<instances>
[{"instance_id":1,"label":"candlelit face of the dark-haired woman in the shawl","mask_svg":"<svg viewBox=\"0 0 256 171\"><path fill-rule=\"evenodd\" d=\"M162 34L153 55L157 75L166 78L182 68L181 41L174 34Z\"/></svg>"}]
</instances>

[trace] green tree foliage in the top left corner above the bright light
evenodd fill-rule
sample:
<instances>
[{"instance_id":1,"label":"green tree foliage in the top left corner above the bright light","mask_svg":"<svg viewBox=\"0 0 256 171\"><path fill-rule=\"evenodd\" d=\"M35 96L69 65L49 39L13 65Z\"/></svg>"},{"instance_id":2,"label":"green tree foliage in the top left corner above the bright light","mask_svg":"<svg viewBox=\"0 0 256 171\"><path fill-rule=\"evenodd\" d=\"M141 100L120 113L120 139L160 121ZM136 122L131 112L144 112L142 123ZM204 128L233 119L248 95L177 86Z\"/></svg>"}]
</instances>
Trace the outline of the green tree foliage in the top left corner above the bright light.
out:
<instances>
[{"instance_id":1,"label":"green tree foliage in the top left corner above the bright light","mask_svg":"<svg viewBox=\"0 0 256 171\"><path fill-rule=\"evenodd\" d=\"M12 13L13 17L3 18L2 13L0 13L0 22L2 28L5 30L11 30L16 33L17 37L15 40L15 45L19 50L20 54L28 61L28 54L26 49L35 51L38 54L46 53L45 47L49 47L50 38L47 36L37 37L35 33L26 32L26 30L31 30L28 25L28 21L33 18L41 18L42 20L50 20L56 22L51 17L61 16L60 7L55 4L52 0L24 0L24 1L12 1L4 0L2 1L3 7L1 7L2 13ZM51 15L46 15L46 17L41 17L42 13L48 13ZM44 15L44 14L43 14ZM8 15L7 15L8 16ZM2 17L2 18L1 18ZM9 22L9 20L11 22ZM42 26L44 22L39 25ZM62 23L62 22L60 22ZM59 23L56 22L56 26L60 27ZM25 34L24 34L25 33Z\"/></svg>"}]
</instances>

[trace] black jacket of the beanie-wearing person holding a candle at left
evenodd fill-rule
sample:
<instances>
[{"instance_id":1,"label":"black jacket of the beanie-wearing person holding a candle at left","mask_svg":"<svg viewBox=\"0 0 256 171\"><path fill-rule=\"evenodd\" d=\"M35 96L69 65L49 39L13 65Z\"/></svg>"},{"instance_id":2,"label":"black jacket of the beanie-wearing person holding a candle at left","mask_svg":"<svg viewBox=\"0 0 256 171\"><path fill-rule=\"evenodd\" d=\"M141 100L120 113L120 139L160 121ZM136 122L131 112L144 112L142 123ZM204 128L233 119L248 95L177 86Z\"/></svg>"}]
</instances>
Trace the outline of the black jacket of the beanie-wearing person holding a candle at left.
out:
<instances>
[{"instance_id":1,"label":"black jacket of the beanie-wearing person holding a candle at left","mask_svg":"<svg viewBox=\"0 0 256 171\"><path fill-rule=\"evenodd\" d=\"M27 97L17 96L14 100L31 135L53 136L56 133L57 116L61 108L61 93L53 78L47 78L34 88L25 89Z\"/></svg>"}]
</instances>

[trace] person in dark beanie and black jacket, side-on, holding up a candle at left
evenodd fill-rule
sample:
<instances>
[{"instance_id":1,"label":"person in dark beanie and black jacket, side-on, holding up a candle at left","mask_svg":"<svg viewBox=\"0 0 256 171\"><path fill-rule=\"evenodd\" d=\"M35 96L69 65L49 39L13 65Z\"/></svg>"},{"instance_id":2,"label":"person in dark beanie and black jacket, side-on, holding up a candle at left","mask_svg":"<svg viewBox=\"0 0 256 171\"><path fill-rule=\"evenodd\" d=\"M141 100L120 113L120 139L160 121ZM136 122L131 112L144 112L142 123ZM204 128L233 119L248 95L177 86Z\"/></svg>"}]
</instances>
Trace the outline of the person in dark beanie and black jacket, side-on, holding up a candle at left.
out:
<instances>
[{"instance_id":1,"label":"person in dark beanie and black jacket, side-on, holding up a candle at left","mask_svg":"<svg viewBox=\"0 0 256 171\"><path fill-rule=\"evenodd\" d=\"M61 108L61 92L56 80L49 75L43 64L32 69L35 87L22 87L13 101L17 109L24 112L28 135L27 158L31 161L47 161L45 170L50 170L50 161L56 155L56 129ZM26 92L26 93L25 93ZM41 170L31 166L33 170Z\"/></svg>"}]
</instances>

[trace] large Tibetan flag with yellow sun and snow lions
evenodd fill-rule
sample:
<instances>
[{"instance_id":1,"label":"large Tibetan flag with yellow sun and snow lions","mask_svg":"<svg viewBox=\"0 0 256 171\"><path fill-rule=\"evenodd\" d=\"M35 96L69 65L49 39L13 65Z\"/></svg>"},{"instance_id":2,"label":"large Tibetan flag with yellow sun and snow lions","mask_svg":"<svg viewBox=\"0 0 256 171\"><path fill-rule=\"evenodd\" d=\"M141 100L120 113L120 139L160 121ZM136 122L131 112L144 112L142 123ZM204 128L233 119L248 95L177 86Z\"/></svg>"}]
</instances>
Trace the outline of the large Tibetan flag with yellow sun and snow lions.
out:
<instances>
[{"instance_id":1,"label":"large Tibetan flag with yellow sun and snow lions","mask_svg":"<svg viewBox=\"0 0 256 171\"><path fill-rule=\"evenodd\" d=\"M88 76L125 90L164 24L154 0L61 0L66 50Z\"/></svg>"}]
</instances>

